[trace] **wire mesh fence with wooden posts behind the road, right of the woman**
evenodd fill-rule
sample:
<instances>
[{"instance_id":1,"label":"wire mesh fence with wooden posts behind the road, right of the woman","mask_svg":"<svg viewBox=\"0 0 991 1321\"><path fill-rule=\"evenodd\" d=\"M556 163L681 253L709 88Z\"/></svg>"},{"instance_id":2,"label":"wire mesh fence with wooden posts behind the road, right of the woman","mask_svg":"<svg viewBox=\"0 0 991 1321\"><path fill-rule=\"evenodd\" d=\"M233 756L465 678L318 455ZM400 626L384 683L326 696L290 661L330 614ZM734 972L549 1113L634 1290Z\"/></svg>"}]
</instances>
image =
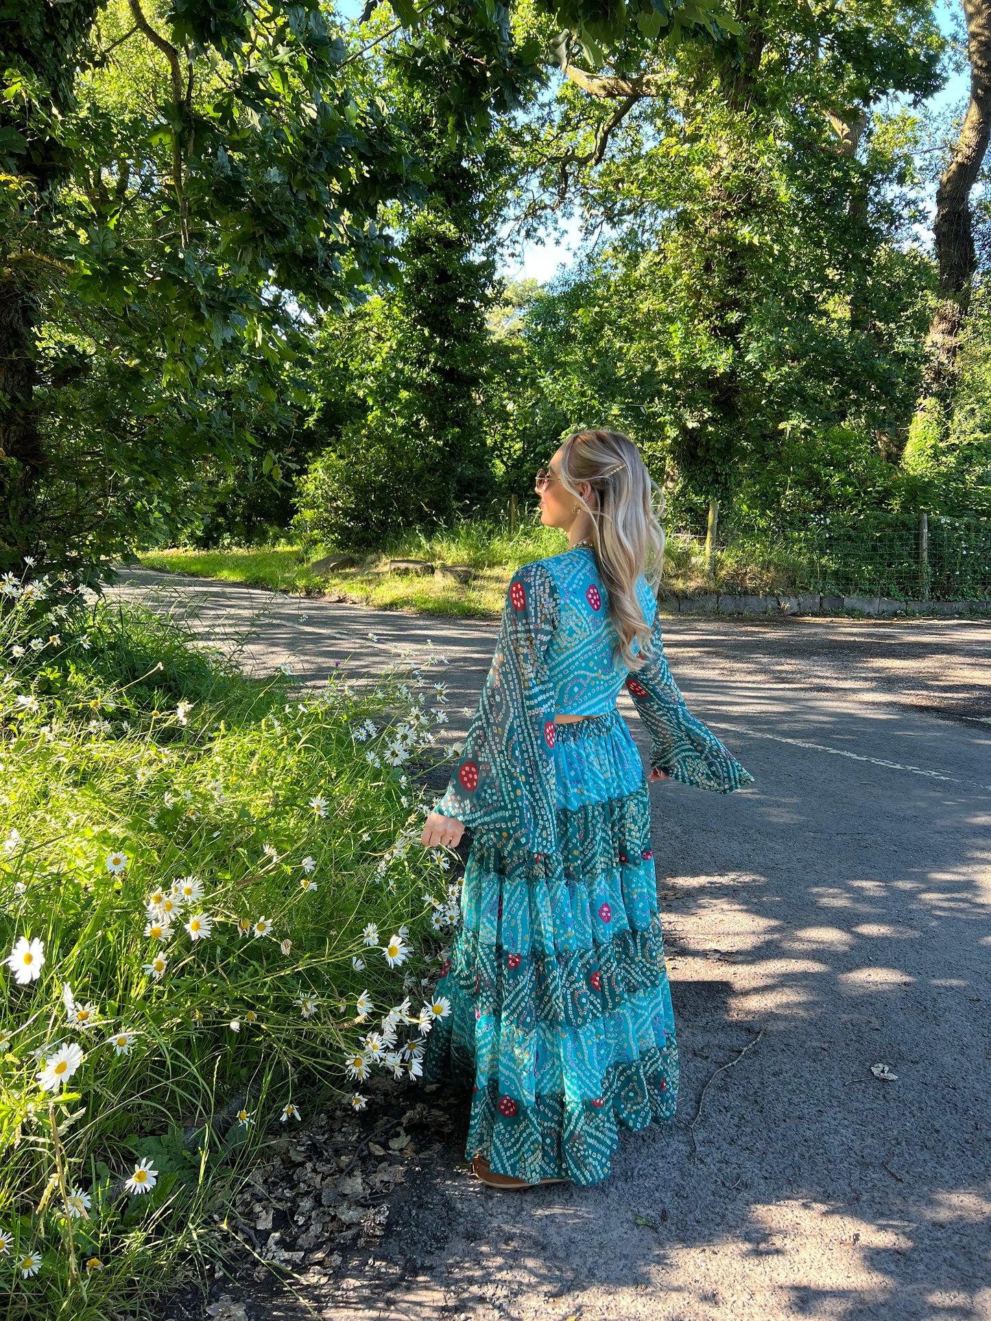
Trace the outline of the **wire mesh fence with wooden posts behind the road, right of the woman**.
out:
<instances>
[{"instance_id":1,"label":"wire mesh fence with wooden posts behind the road, right of the woman","mask_svg":"<svg viewBox=\"0 0 991 1321\"><path fill-rule=\"evenodd\" d=\"M691 543L691 547L690 547ZM669 538L699 563L700 542ZM714 564L724 590L819 592L909 601L991 600L991 523L980 518L875 514L802 528L720 528Z\"/></svg>"}]
</instances>

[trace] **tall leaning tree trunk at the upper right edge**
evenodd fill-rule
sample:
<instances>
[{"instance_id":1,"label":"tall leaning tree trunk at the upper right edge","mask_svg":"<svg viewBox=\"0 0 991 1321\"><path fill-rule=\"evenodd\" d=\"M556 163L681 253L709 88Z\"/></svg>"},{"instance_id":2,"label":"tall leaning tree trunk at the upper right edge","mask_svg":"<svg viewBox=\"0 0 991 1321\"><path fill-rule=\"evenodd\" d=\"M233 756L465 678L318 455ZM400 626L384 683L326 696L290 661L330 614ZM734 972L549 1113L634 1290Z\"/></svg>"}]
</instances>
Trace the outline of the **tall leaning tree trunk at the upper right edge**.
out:
<instances>
[{"instance_id":1,"label":"tall leaning tree trunk at the upper right edge","mask_svg":"<svg viewBox=\"0 0 991 1321\"><path fill-rule=\"evenodd\" d=\"M936 194L938 303L929 325L929 366L922 396L942 394L957 374L961 330L976 267L970 193L991 133L991 0L963 0L970 58L970 106Z\"/></svg>"}]
</instances>

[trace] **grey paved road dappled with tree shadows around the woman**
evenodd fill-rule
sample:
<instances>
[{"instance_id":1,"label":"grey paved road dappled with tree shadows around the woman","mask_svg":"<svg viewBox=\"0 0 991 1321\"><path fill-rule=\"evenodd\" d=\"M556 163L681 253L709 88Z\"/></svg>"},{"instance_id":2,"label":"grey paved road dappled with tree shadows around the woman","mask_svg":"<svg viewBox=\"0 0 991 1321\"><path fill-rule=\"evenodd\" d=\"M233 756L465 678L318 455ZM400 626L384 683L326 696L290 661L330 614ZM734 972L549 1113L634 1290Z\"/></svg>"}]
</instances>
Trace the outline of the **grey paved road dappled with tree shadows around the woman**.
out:
<instances>
[{"instance_id":1,"label":"grey paved road dappled with tree shadows around the woman","mask_svg":"<svg viewBox=\"0 0 991 1321\"><path fill-rule=\"evenodd\" d=\"M182 590L221 633L262 604ZM316 678L427 638L469 700L488 625L280 598L251 658ZM991 1321L991 627L673 618L667 638L756 777L653 790L678 1119L625 1135L597 1189L497 1193L449 1160L311 1296L328 1321Z\"/></svg>"}]
</instances>

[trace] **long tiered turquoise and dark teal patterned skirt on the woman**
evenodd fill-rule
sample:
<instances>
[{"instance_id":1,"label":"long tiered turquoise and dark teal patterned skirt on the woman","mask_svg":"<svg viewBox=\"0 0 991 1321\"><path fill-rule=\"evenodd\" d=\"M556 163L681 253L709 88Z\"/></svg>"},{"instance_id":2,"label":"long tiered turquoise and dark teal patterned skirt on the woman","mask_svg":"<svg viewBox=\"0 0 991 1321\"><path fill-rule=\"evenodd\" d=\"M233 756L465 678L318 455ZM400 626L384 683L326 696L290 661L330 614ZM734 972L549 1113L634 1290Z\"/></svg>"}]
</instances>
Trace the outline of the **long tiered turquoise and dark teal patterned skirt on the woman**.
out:
<instances>
[{"instance_id":1,"label":"long tiered turquoise and dark teal patterned skirt on the woman","mask_svg":"<svg viewBox=\"0 0 991 1321\"><path fill-rule=\"evenodd\" d=\"M674 1118L678 1049L649 789L620 713L558 725L554 769L558 853L472 843L424 1073L472 1089L469 1160L595 1184L621 1127Z\"/></svg>"}]
</instances>

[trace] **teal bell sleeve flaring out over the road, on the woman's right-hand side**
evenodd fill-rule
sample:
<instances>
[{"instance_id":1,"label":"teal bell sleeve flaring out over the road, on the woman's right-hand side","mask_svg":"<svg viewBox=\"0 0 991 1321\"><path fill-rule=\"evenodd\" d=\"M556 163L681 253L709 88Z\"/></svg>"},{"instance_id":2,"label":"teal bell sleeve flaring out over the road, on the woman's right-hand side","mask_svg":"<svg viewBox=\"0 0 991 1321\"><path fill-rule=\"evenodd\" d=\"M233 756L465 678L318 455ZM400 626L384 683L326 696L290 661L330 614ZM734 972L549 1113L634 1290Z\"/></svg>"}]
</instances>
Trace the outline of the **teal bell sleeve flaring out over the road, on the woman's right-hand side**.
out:
<instances>
[{"instance_id":1,"label":"teal bell sleeve flaring out over the road, on the woman's right-hand side","mask_svg":"<svg viewBox=\"0 0 991 1321\"><path fill-rule=\"evenodd\" d=\"M626 690L650 731L650 765L683 785L717 794L753 783L753 775L686 707L667 668L657 610L646 655L643 666L626 679Z\"/></svg>"}]
</instances>

